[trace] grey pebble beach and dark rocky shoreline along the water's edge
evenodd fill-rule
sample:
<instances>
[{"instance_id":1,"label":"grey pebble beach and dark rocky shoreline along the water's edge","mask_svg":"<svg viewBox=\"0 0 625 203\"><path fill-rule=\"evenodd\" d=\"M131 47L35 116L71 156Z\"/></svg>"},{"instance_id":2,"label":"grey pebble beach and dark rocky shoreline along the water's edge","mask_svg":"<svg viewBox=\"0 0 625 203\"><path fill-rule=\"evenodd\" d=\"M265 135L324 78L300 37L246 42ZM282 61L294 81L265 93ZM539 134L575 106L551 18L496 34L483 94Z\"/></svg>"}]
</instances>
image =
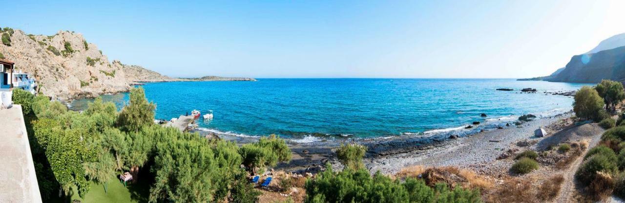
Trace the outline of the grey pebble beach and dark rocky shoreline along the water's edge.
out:
<instances>
[{"instance_id":1,"label":"grey pebble beach and dark rocky shoreline along the water's edge","mask_svg":"<svg viewBox=\"0 0 625 203\"><path fill-rule=\"evenodd\" d=\"M534 137L534 130L538 127L550 126L571 116L572 112L567 111L524 122L519 126L474 128L471 129L474 133L469 131L459 137L449 137L449 134L443 133L429 137L422 137L421 134L376 139L346 138L306 143L287 139L287 145L292 152L292 159L289 163L278 164L274 169L315 172L319 170L319 166L324 166L326 162L329 162L335 169L342 169L342 164L336 159L335 151L341 143L347 142L356 142L367 146L364 164L371 172L380 171L382 174L394 174L404 167L414 165L461 166L479 169L484 164L494 161L503 152L502 149L506 149L512 143L522 139L536 138ZM514 121L510 122L513 123ZM549 133L553 132L550 131ZM246 144L258 139L258 137L252 136L219 135L215 132L201 133L201 136L207 135L217 135L227 141L236 141L237 144Z\"/></svg>"}]
</instances>

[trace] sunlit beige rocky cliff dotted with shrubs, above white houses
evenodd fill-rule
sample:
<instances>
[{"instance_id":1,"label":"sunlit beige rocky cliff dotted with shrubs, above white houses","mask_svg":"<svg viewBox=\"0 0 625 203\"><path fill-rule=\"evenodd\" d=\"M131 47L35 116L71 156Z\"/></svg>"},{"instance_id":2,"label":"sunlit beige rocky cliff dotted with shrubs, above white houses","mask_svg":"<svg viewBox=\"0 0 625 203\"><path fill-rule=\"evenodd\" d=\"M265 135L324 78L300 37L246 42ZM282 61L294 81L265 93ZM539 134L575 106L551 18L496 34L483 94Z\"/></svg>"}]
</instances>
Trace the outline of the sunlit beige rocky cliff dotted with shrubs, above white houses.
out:
<instances>
[{"instance_id":1,"label":"sunlit beige rocky cliff dotted with shrubs, above white houses","mask_svg":"<svg viewBox=\"0 0 625 203\"><path fill-rule=\"evenodd\" d=\"M0 57L15 62L16 71L34 76L41 94L64 100L130 88L121 64L109 63L82 34L59 31L36 36L12 29L1 34L7 40L0 44Z\"/></svg>"}]
</instances>

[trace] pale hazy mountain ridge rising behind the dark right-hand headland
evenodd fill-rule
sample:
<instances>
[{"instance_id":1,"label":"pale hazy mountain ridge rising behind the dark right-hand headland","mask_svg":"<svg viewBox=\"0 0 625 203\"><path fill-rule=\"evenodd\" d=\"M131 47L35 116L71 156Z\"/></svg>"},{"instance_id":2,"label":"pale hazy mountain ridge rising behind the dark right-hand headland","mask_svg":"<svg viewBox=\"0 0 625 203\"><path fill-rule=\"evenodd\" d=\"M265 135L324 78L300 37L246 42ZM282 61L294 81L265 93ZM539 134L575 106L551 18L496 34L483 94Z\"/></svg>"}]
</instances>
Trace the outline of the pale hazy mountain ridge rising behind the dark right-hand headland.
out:
<instances>
[{"instance_id":1,"label":"pale hazy mountain ridge rising behind the dark right-hand headland","mask_svg":"<svg viewBox=\"0 0 625 203\"><path fill-rule=\"evenodd\" d=\"M596 47L592 48L591 51L588 51L584 54L587 56L591 56L591 54L595 54L597 52L615 49L617 47L622 47L622 46L625 46L625 33L617 34L615 36L604 39L603 41L599 42L599 45L597 45ZM578 55L578 56L583 56L584 54ZM576 59L575 56L571 59L571 62L574 59ZM571 64L571 62L569 62L569 64ZM561 67L557 69L556 71L554 71L549 76L532 77L528 79L518 79L518 80L519 81L554 81L555 82L555 81L561 81L564 78L572 78L570 76L557 77L562 71L564 71L564 69L566 69L566 67ZM593 76L588 76L588 77L593 77ZM561 82L569 82L569 81L561 81ZM599 81L597 82L601 82L601 79L599 79Z\"/></svg>"}]
</instances>

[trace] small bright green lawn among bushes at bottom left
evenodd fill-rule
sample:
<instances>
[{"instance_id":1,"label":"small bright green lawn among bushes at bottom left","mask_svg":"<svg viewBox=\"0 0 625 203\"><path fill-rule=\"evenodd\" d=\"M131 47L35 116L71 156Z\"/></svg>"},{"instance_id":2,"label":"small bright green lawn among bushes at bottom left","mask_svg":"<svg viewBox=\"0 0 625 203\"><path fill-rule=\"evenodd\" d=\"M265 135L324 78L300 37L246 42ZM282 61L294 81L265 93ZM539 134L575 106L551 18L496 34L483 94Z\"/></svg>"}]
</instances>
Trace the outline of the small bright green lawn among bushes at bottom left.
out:
<instances>
[{"instance_id":1,"label":"small bright green lawn among bushes at bottom left","mask_svg":"<svg viewBox=\"0 0 625 203\"><path fill-rule=\"evenodd\" d=\"M108 183L108 193L104 193L104 186L91 183L91 189L89 193L81 199L78 196L78 189L72 188L70 192L71 200L55 200L53 202L71 202L74 199L78 199L83 203L89 202L148 202L149 185L144 182L137 182L135 184L128 183L128 187L124 187L124 184L119 182L118 179L113 179Z\"/></svg>"}]
</instances>

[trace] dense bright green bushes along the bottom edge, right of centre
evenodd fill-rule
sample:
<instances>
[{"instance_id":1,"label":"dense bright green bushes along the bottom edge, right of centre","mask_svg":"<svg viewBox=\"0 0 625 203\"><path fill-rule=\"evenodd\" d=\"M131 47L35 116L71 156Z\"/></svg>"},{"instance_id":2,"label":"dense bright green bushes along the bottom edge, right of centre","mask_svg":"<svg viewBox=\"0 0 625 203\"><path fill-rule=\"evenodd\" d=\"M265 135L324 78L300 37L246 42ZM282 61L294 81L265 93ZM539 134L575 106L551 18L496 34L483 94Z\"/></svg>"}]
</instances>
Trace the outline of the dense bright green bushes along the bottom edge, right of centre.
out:
<instances>
[{"instance_id":1,"label":"dense bright green bushes along the bottom edge, right of centre","mask_svg":"<svg viewBox=\"0 0 625 203\"><path fill-rule=\"evenodd\" d=\"M408 178L402 182L365 169L327 170L306 181L304 202L481 202L477 190L445 184L428 187L424 181Z\"/></svg>"}]
</instances>

